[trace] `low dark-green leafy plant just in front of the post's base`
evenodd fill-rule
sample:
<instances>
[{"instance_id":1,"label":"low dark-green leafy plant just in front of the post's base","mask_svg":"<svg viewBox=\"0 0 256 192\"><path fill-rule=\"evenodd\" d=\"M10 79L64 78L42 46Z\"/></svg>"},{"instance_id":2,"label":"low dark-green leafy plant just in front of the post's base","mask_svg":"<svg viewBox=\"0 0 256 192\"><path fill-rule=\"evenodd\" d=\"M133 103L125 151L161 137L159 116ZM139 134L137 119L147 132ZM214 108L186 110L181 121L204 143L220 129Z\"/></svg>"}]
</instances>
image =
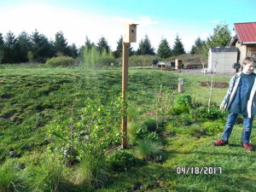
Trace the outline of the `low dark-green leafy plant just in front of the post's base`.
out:
<instances>
[{"instance_id":1,"label":"low dark-green leafy plant just in front of the post's base","mask_svg":"<svg viewBox=\"0 0 256 192\"><path fill-rule=\"evenodd\" d=\"M133 154L124 150L116 151L109 156L109 164L113 171L123 172L137 165L137 159Z\"/></svg>"}]
</instances>

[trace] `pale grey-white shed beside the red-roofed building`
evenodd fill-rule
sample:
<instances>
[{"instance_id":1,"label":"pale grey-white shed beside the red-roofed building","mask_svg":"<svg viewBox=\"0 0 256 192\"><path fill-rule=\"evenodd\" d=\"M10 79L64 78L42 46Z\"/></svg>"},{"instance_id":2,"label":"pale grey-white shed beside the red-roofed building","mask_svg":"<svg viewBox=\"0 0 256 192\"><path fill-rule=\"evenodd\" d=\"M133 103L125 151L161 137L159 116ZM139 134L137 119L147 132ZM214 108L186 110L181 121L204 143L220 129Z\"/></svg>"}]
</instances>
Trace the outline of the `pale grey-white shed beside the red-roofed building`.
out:
<instances>
[{"instance_id":1,"label":"pale grey-white shed beside the red-roofed building","mask_svg":"<svg viewBox=\"0 0 256 192\"><path fill-rule=\"evenodd\" d=\"M237 48L231 47L211 47L208 55L208 73L234 73L232 67L237 62Z\"/></svg>"}]
</instances>

